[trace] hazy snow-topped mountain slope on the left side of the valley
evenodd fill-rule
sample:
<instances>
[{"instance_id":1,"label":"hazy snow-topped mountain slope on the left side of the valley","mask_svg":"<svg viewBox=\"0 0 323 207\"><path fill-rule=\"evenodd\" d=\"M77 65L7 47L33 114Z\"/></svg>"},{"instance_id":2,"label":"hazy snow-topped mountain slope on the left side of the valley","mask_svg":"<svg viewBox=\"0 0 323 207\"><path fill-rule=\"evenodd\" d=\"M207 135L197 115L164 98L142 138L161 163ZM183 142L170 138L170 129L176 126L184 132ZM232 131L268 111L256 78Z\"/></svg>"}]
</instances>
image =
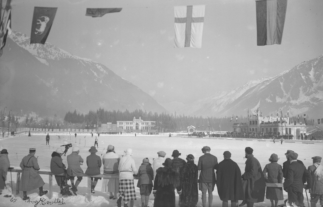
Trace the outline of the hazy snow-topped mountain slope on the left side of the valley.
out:
<instances>
[{"instance_id":1,"label":"hazy snow-topped mountain slope on the left side of the valley","mask_svg":"<svg viewBox=\"0 0 323 207\"><path fill-rule=\"evenodd\" d=\"M55 45L29 44L19 32L8 35L0 62L1 105L13 111L63 116L97 110L165 112L150 95L105 65L74 56Z\"/></svg>"}]
</instances>

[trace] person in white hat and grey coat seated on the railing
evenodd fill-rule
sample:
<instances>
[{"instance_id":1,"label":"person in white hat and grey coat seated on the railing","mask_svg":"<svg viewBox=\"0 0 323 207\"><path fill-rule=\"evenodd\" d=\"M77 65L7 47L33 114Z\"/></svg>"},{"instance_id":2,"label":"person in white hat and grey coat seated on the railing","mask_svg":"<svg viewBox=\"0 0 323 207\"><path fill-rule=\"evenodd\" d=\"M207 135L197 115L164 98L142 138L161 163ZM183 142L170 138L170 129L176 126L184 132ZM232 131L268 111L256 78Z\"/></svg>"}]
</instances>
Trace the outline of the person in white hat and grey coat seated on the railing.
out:
<instances>
[{"instance_id":1,"label":"person in white hat and grey coat seated on the railing","mask_svg":"<svg viewBox=\"0 0 323 207\"><path fill-rule=\"evenodd\" d=\"M82 176L80 176L83 173L83 170L81 168L81 164L83 164L83 158L78 155L80 152L78 147L73 147L72 148L72 153L67 155L67 174L70 176L69 179L71 180L72 184L72 192L74 195L77 195L76 192L78 191L77 187L78 184L82 181ZM77 176L78 179L75 182L74 185L74 177Z\"/></svg>"}]
</instances>

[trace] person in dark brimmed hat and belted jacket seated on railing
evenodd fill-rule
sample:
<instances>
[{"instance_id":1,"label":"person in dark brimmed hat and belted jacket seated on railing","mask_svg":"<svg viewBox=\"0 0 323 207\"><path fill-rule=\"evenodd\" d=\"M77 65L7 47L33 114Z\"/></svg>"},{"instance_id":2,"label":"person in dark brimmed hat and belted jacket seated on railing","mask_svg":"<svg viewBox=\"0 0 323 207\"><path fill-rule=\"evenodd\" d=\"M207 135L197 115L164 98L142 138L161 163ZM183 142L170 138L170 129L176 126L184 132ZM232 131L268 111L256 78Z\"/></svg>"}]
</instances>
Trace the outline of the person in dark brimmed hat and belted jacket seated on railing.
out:
<instances>
[{"instance_id":1,"label":"person in dark brimmed hat and belted jacket seated on railing","mask_svg":"<svg viewBox=\"0 0 323 207\"><path fill-rule=\"evenodd\" d=\"M88 168L85 171L85 174L87 175L99 175L100 174L100 168L102 165L101 158L96 155L95 153L98 152L97 149L95 149L95 146L92 146L89 149L89 152L91 153L89 156L86 157L86 164L88 165ZM91 177L91 192L95 193L94 188L98 183L98 180L101 180L99 177Z\"/></svg>"}]
</instances>

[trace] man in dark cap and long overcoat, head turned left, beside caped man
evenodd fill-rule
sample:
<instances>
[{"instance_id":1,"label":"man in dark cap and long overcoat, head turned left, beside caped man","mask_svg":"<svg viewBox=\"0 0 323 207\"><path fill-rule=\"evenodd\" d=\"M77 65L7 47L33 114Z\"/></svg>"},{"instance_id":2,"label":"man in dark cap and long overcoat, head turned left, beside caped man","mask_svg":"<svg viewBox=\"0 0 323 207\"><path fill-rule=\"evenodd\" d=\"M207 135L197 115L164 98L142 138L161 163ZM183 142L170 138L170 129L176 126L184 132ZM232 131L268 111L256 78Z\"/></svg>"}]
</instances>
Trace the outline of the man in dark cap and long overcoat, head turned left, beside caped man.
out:
<instances>
[{"instance_id":1,"label":"man in dark cap and long overcoat, head turned left, beside caped man","mask_svg":"<svg viewBox=\"0 0 323 207\"><path fill-rule=\"evenodd\" d=\"M251 147L245 148L245 173L242 184L245 192L245 200L239 204L253 207L254 203L263 202L265 199L266 182L259 161L254 157Z\"/></svg>"}]
</instances>

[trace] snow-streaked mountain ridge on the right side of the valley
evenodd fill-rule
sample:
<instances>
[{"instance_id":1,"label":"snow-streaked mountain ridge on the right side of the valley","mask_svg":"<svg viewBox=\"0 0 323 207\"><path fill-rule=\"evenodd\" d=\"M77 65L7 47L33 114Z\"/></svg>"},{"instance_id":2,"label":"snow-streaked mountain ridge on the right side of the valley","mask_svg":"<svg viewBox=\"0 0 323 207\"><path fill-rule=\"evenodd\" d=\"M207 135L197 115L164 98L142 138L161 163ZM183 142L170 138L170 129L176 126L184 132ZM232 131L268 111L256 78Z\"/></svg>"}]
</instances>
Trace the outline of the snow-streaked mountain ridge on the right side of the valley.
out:
<instances>
[{"instance_id":1,"label":"snow-streaked mountain ridge on the right side of the valley","mask_svg":"<svg viewBox=\"0 0 323 207\"><path fill-rule=\"evenodd\" d=\"M273 78L249 81L233 90L221 91L192 104L170 103L164 107L177 114L197 116L247 115L261 101L264 116L278 109L290 115L314 117L323 110L323 55L303 62ZM249 112L251 113L251 112Z\"/></svg>"}]
</instances>

